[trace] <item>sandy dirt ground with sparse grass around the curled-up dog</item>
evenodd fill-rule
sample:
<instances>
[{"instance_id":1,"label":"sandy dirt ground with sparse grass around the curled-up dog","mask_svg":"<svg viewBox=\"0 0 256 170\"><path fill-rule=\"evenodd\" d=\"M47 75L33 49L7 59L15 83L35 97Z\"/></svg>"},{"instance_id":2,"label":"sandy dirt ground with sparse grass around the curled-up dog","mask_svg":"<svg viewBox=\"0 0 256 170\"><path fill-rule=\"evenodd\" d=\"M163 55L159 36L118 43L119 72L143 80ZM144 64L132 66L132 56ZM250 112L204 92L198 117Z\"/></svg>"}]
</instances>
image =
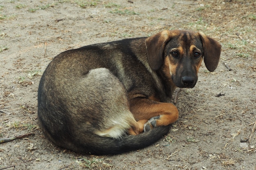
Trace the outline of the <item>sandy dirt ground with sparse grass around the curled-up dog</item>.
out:
<instances>
[{"instance_id":1,"label":"sandy dirt ground with sparse grass around the curled-up dog","mask_svg":"<svg viewBox=\"0 0 256 170\"><path fill-rule=\"evenodd\" d=\"M256 170L255 0L132 1L0 0L0 138L35 133L0 144L0 170ZM195 88L180 92L168 135L114 156L76 154L44 137L37 89L54 56L164 29L222 44L216 71L202 64Z\"/></svg>"}]
</instances>

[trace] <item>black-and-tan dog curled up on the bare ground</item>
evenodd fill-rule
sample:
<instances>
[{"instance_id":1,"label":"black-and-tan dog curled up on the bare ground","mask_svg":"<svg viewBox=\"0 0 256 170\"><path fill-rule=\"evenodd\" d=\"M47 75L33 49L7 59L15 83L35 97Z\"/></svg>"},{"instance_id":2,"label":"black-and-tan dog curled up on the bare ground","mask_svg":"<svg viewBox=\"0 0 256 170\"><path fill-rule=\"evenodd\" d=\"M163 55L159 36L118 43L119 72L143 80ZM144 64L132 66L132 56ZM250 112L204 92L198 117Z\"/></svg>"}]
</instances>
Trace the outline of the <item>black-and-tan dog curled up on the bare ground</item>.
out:
<instances>
[{"instance_id":1,"label":"black-and-tan dog curled up on the bare ground","mask_svg":"<svg viewBox=\"0 0 256 170\"><path fill-rule=\"evenodd\" d=\"M38 124L54 144L78 153L144 148L178 119L175 88L193 88L202 60L214 71L220 52L204 33L182 30L65 51L40 79Z\"/></svg>"}]
</instances>

